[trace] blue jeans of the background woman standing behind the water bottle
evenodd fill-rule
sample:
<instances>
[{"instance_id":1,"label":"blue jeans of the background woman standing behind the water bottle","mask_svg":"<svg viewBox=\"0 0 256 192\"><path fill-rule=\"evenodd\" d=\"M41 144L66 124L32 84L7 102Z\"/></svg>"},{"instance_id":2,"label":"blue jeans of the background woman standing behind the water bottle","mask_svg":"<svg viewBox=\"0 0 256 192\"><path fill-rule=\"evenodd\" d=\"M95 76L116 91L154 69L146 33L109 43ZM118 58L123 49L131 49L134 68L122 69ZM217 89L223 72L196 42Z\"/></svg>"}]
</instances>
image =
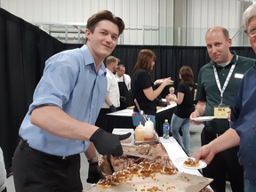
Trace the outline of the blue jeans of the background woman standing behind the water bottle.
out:
<instances>
[{"instance_id":1,"label":"blue jeans of the background woman standing behind the water bottle","mask_svg":"<svg viewBox=\"0 0 256 192\"><path fill-rule=\"evenodd\" d=\"M189 118L180 118L175 114L172 115L172 121L171 121L172 136L176 140L178 140L178 142L180 143L180 146L182 146L182 148L185 149L188 155L189 155L189 148L190 148L189 124L190 124ZM180 126L183 134L182 138L179 133Z\"/></svg>"}]
</instances>

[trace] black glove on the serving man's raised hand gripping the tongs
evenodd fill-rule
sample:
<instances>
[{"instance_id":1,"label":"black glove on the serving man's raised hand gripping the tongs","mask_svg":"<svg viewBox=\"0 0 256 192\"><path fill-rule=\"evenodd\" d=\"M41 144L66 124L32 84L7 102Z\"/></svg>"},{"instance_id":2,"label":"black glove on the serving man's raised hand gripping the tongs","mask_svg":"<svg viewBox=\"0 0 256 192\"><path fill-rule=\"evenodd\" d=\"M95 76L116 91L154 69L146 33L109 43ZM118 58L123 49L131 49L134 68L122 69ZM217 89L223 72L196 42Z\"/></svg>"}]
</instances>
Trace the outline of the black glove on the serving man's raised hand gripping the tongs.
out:
<instances>
[{"instance_id":1,"label":"black glove on the serving man's raised hand gripping the tongs","mask_svg":"<svg viewBox=\"0 0 256 192\"><path fill-rule=\"evenodd\" d=\"M102 129L93 132L90 141L93 142L95 148L101 155L112 155L112 156L122 156L123 148L121 146L120 140L125 140L131 136L131 132L124 135L116 135L109 132L105 132Z\"/></svg>"}]
</instances>

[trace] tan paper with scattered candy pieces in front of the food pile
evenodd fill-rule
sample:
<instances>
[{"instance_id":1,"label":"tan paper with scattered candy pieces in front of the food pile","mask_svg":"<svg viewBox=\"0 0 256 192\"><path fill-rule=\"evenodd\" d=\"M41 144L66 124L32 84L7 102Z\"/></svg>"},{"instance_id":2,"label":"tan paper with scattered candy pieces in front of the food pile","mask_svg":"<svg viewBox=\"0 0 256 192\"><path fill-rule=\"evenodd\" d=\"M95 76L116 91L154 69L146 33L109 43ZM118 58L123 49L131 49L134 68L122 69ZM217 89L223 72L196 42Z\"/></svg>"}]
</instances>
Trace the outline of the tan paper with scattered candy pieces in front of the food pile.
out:
<instances>
[{"instance_id":1,"label":"tan paper with scattered candy pieces in front of the food pile","mask_svg":"<svg viewBox=\"0 0 256 192\"><path fill-rule=\"evenodd\" d=\"M106 179L108 180L108 179ZM212 179L204 178L184 172L176 172L175 174L160 174L155 172L154 176L140 176L133 174L132 178L122 180L120 183L112 181L100 180L96 186L87 188L84 192L133 192L133 191L170 191L170 192L194 192L194 191L211 191L211 189L203 189ZM106 183L104 187L101 183ZM111 183L111 185L109 184ZM100 184L100 185L99 185ZM157 190L156 190L157 189Z\"/></svg>"}]
</instances>

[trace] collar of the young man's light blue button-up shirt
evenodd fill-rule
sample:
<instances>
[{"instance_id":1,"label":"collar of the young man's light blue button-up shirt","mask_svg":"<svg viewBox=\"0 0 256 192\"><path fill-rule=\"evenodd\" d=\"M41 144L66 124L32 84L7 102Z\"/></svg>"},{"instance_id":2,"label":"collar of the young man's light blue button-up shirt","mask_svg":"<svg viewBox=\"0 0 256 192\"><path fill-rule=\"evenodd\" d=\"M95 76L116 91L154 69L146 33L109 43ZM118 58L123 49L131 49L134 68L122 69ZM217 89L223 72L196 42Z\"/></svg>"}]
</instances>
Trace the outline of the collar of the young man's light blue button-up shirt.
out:
<instances>
[{"instance_id":1,"label":"collar of the young man's light blue button-up shirt","mask_svg":"<svg viewBox=\"0 0 256 192\"><path fill-rule=\"evenodd\" d=\"M95 61L92 57L92 53L90 52L88 46L86 44L84 44L81 48L81 51L83 52L83 57L84 57L84 65L92 65L93 64L93 68L96 71L96 65L95 65ZM106 68L104 63L102 62L98 71L98 75L101 76L102 74L107 74Z\"/></svg>"}]
</instances>

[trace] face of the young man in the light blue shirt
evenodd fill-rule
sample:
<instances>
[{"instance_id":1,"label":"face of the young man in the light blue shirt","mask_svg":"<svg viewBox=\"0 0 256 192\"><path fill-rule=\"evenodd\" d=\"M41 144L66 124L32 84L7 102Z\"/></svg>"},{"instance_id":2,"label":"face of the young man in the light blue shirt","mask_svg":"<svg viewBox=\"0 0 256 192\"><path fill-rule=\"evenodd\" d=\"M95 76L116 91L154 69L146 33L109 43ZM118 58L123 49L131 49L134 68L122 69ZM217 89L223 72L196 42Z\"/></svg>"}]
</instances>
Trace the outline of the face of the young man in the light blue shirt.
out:
<instances>
[{"instance_id":1,"label":"face of the young man in the light blue shirt","mask_svg":"<svg viewBox=\"0 0 256 192\"><path fill-rule=\"evenodd\" d=\"M90 49L93 59L104 60L116 47L119 29L116 24L109 20L100 20L95 26L94 32L87 28L86 45Z\"/></svg>"}]
</instances>

